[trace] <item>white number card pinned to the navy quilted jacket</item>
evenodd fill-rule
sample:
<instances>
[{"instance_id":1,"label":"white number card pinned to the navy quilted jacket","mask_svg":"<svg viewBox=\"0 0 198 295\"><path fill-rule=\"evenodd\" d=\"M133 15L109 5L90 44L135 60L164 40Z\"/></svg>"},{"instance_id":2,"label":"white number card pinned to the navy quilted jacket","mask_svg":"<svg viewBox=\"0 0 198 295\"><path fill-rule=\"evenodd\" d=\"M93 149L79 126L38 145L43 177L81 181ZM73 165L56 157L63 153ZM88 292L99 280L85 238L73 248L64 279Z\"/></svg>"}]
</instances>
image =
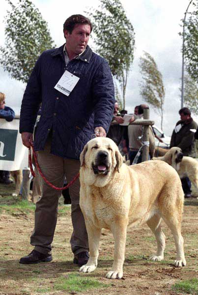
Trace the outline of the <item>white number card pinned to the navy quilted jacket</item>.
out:
<instances>
[{"instance_id":1,"label":"white number card pinned to the navy quilted jacket","mask_svg":"<svg viewBox=\"0 0 198 295\"><path fill-rule=\"evenodd\" d=\"M71 91L74 89L76 84L79 81L79 77L73 75L72 73L68 72L67 70L64 72L60 80L58 81L55 89L60 91L61 93L69 96Z\"/></svg>"}]
</instances>

